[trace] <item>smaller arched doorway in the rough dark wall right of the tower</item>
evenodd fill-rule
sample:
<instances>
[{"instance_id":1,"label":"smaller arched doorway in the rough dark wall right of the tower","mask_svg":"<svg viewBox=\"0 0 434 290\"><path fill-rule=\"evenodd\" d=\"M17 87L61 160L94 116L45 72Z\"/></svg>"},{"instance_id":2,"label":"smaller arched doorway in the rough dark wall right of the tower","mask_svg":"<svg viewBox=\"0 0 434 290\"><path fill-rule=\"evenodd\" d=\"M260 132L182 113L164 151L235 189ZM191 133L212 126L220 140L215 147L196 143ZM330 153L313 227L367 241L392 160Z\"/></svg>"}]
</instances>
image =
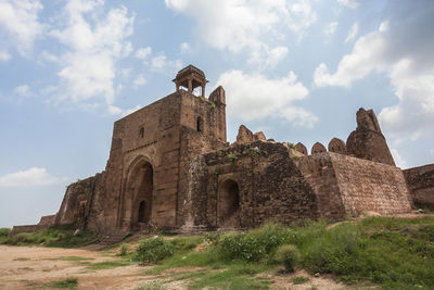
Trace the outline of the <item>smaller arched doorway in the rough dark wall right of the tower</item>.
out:
<instances>
[{"instance_id":1,"label":"smaller arched doorway in the rough dark wall right of the tower","mask_svg":"<svg viewBox=\"0 0 434 290\"><path fill-rule=\"evenodd\" d=\"M237 181L226 180L218 193L218 226L240 227L240 188Z\"/></svg>"}]
</instances>

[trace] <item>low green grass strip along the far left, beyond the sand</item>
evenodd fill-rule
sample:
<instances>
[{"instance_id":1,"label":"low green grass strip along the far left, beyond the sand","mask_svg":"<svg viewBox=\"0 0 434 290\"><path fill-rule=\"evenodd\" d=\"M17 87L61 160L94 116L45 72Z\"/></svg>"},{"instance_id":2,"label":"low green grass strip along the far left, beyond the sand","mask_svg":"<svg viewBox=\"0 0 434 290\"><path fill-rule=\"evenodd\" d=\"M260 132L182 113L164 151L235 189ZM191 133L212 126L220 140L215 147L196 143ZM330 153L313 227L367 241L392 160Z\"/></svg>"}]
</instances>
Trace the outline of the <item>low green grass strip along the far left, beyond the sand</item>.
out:
<instances>
[{"instance_id":1,"label":"low green grass strip along the far left, beyond the sand","mask_svg":"<svg viewBox=\"0 0 434 290\"><path fill-rule=\"evenodd\" d=\"M46 245L59 248L75 248L99 241L94 232L80 231L74 235L72 226L62 226L60 228L48 228L37 232L21 232L10 236L0 236L0 244L11 245Z\"/></svg>"}]
</instances>

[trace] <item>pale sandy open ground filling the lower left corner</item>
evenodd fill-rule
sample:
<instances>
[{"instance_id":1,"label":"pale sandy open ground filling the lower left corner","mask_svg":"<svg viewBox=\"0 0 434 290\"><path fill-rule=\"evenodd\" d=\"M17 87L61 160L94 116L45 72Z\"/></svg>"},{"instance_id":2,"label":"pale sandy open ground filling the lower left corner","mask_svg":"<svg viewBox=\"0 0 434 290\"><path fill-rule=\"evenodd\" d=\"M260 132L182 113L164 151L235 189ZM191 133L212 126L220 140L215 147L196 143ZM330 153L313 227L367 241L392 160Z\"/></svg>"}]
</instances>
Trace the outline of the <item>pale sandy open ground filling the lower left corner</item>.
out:
<instances>
[{"instance_id":1,"label":"pale sandy open ground filling the lower left corner","mask_svg":"<svg viewBox=\"0 0 434 290\"><path fill-rule=\"evenodd\" d=\"M67 256L89 259L64 261ZM136 265L91 270L86 263L120 261L104 252L42 247L0 245L0 289L44 288L47 282L78 278L77 289L135 289L149 281Z\"/></svg>"}]
</instances>

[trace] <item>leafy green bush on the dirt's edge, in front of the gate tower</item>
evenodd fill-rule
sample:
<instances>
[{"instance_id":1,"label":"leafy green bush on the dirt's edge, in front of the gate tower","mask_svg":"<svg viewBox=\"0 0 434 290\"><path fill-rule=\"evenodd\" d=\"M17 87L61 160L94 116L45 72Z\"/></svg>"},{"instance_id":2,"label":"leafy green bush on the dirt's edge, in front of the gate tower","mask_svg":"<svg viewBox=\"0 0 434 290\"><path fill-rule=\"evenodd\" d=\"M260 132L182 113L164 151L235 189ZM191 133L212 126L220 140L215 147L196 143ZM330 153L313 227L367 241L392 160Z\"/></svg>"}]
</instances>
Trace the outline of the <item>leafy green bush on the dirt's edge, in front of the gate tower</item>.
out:
<instances>
[{"instance_id":1,"label":"leafy green bush on the dirt's edge, in front of the gate tower","mask_svg":"<svg viewBox=\"0 0 434 290\"><path fill-rule=\"evenodd\" d=\"M156 263L171 256L175 245L162 237L150 238L142 241L136 251L136 259L142 264Z\"/></svg>"}]
</instances>

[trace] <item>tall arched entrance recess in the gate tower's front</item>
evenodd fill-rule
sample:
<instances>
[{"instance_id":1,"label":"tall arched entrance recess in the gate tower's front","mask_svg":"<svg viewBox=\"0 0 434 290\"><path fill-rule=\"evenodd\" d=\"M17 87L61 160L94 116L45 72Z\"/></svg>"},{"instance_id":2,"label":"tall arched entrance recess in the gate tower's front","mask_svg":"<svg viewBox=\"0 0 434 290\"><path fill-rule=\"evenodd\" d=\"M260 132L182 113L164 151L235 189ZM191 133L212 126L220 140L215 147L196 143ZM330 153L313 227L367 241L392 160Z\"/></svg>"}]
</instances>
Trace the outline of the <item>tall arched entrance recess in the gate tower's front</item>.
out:
<instances>
[{"instance_id":1,"label":"tall arched entrance recess in the gate tower's front","mask_svg":"<svg viewBox=\"0 0 434 290\"><path fill-rule=\"evenodd\" d=\"M124 196L124 228L140 230L148 226L152 217L152 196L154 171L144 159L131 165Z\"/></svg>"}]
</instances>

